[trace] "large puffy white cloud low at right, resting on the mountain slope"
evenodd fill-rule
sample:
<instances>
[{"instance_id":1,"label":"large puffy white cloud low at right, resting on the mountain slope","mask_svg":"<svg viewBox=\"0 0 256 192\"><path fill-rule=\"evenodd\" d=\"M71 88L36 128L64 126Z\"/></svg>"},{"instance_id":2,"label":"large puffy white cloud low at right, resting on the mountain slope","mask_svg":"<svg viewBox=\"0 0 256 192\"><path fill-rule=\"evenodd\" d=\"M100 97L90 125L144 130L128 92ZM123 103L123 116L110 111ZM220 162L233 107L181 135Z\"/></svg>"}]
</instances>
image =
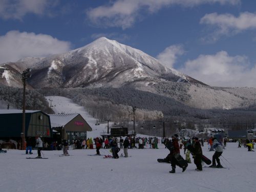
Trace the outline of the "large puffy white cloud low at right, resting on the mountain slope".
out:
<instances>
[{"instance_id":1,"label":"large puffy white cloud low at right, resting on the mountain slope","mask_svg":"<svg viewBox=\"0 0 256 192\"><path fill-rule=\"evenodd\" d=\"M178 70L210 86L256 87L256 65L250 67L246 56L232 57L225 51L200 55L195 60L188 60L184 68Z\"/></svg>"}]
</instances>

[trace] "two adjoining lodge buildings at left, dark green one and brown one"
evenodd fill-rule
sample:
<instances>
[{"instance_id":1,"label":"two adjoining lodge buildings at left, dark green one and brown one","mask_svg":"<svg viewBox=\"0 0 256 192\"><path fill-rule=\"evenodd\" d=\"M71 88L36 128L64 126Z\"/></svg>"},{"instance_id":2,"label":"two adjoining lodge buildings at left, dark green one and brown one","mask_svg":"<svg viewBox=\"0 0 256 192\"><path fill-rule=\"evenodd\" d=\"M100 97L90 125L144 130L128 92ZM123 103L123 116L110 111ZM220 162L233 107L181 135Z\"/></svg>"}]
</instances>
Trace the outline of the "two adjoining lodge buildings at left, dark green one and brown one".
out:
<instances>
[{"instance_id":1,"label":"two adjoining lodge buildings at left, dark green one and brown one","mask_svg":"<svg viewBox=\"0 0 256 192\"><path fill-rule=\"evenodd\" d=\"M0 110L0 140L20 142L23 124L23 110ZM51 114L26 110L25 138L41 136L44 142L61 142L61 139L86 139L92 127L78 113Z\"/></svg>"}]
</instances>

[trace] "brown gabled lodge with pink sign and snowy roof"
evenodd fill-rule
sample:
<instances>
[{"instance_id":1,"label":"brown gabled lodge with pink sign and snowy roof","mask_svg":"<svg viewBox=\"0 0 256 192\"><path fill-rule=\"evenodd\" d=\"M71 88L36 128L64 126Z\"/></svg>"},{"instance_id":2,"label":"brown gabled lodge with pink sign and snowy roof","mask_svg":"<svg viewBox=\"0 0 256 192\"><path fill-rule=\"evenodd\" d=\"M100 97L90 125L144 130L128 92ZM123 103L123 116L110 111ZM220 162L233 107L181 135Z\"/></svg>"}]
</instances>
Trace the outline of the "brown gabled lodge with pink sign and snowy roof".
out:
<instances>
[{"instance_id":1,"label":"brown gabled lodge with pink sign and snowy roof","mask_svg":"<svg viewBox=\"0 0 256 192\"><path fill-rule=\"evenodd\" d=\"M73 114L50 114L53 130L53 140L58 143L61 139L67 139L72 143L74 139L86 139L87 132L92 131L92 127L78 113Z\"/></svg>"}]
</instances>

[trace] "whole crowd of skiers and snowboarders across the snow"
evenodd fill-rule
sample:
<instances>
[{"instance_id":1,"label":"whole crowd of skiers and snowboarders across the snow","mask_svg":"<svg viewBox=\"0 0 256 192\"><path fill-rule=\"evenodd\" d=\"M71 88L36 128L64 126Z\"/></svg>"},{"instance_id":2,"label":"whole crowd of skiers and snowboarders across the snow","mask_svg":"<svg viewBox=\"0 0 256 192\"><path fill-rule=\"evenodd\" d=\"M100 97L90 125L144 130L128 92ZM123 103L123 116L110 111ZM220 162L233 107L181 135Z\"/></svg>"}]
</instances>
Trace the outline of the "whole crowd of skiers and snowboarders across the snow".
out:
<instances>
[{"instance_id":1,"label":"whole crowd of skiers and snowboarders across the snow","mask_svg":"<svg viewBox=\"0 0 256 192\"><path fill-rule=\"evenodd\" d=\"M217 138L211 137L207 140L208 143L208 150L214 151L215 153L212 156L212 164L209 167L217 167L221 168L221 162L220 162L220 156L223 153L223 148L226 146L226 139L219 142ZM169 138L162 138L161 143L165 145L165 148L168 148L169 154L165 158L166 162L171 163L172 170L170 170L170 173L176 172L176 165L179 165L179 161L177 160L177 155L180 155L180 150L182 150L182 147L184 149L185 154L185 161L187 163L191 163L190 154L192 155L194 159L194 163L197 166L197 171L202 171L202 158L203 158L203 152L202 152L202 146L204 146L204 139L199 139L197 137L192 138L179 138L177 134L173 135L171 139ZM33 147L34 140L33 138L29 137L26 139L26 154L32 154L32 147ZM41 150L42 149L49 149L50 150L63 150L63 155L68 156L68 149L70 145L73 145L74 149L94 149L96 148L96 154L95 155L101 155L100 149L110 149L110 152L112 153L112 158L118 159L119 155L118 152L123 149L124 157L129 157L128 155L128 149L129 148L152 148L157 149L159 139L157 137L113 137L113 138L104 138L104 140L100 137L97 138L88 138L88 139L76 139L72 140L72 143L69 143L68 140L62 139L61 143L52 142L50 145L48 145L47 142L43 142L40 138L40 136L35 137L35 147L37 147L37 158L41 158ZM253 141L250 141L248 139L242 141L239 140L239 146L241 147L242 143L244 147L248 147L248 151L252 151L252 148L254 148ZM59 147L59 148L58 148ZM182 172L185 171L186 166L180 166L182 167Z\"/></svg>"}]
</instances>

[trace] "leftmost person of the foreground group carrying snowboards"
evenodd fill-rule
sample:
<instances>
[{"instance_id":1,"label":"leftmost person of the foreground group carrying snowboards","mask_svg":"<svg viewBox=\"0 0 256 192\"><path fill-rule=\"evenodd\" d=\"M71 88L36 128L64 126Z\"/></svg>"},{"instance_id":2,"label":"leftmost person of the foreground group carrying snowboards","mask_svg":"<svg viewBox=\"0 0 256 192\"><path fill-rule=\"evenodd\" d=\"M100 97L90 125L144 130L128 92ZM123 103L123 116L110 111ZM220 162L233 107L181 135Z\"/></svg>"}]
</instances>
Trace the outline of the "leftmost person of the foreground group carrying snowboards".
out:
<instances>
[{"instance_id":1,"label":"leftmost person of the foreground group carrying snowboards","mask_svg":"<svg viewBox=\"0 0 256 192\"><path fill-rule=\"evenodd\" d=\"M169 173L175 173L175 168L176 168L176 164L177 159L175 158L175 155L180 154L180 146L178 143L178 135L175 134L172 136L172 142L169 143L167 145L168 150L170 151L170 154L168 155L168 157L170 158L170 163L172 165L172 170L169 171ZM182 168L182 172L184 172L186 170L186 167Z\"/></svg>"}]
</instances>

